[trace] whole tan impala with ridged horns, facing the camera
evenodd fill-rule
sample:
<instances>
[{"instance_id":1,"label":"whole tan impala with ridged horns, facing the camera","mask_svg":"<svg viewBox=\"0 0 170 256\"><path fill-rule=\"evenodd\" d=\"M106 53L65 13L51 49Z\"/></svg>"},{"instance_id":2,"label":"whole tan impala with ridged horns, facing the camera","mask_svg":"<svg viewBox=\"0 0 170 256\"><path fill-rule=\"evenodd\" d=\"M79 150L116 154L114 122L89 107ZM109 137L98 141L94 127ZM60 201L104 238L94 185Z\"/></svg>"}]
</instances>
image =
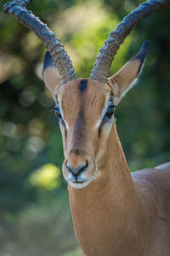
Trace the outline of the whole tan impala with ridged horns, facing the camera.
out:
<instances>
[{"instance_id":1,"label":"whole tan impala with ridged horns, facing the camera","mask_svg":"<svg viewBox=\"0 0 170 256\"><path fill-rule=\"evenodd\" d=\"M4 11L37 34L48 48L43 79L55 101L62 132L71 215L82 255L170 255L170 162L129 172L116 132L114 111L137 79L149 49L108 78L124 38L139 21L170 5L141 3L111 32L89 79L78 79L59 39L28 12L30 0L7 3Z\"/></svg>"}]
</instances>

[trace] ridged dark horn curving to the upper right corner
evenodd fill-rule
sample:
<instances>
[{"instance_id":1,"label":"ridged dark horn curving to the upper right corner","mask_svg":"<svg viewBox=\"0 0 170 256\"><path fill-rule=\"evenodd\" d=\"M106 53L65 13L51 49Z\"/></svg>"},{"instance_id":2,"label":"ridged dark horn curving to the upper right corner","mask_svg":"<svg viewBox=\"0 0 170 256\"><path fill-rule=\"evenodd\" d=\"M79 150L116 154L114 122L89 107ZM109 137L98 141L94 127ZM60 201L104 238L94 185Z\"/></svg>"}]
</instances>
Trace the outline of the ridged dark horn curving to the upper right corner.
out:
<instances>
[{"instance_id":1,"label":"ridged dark horn curving to the upper right corner","mask_svg":"<svg viewBox=\"0 0 170 256\"><path fill-rule=\"evenodd\" d=\"M127 15L118 26L115 32L111 32L109 38L105 40L104 46L99 49L99 55L94 63L94 69L90 79L106 82L109 76L111 63L116 55L117 49L123 43L127 35L133 30L140 21L159 9L170 5L170 0L149 0L141 3L137 9L134 9Z\"/></svg>"}]
</instances>

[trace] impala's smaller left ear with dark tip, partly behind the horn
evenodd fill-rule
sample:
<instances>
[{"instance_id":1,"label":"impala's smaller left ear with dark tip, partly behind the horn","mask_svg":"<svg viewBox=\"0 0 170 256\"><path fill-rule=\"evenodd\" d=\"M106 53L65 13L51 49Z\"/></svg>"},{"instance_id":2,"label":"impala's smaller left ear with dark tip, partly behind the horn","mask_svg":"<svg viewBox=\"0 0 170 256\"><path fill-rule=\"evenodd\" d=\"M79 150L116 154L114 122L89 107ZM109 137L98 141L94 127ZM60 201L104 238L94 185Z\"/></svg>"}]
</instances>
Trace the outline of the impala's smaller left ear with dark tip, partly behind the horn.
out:
<instances>
[{"instance_id":1,"label":"impala's smaller left ear with dark tip, partly behind the horn","mask_svg":"<svg viewBox=\"0 0 170 256\"><path fill-rule=\"evenodd\" d=\"M55 98L57 90L61 86L61 82L57 66L48 51L43 59L42 77L46 86L51 90L51 93Z\"/></svg>"}]
</instances>

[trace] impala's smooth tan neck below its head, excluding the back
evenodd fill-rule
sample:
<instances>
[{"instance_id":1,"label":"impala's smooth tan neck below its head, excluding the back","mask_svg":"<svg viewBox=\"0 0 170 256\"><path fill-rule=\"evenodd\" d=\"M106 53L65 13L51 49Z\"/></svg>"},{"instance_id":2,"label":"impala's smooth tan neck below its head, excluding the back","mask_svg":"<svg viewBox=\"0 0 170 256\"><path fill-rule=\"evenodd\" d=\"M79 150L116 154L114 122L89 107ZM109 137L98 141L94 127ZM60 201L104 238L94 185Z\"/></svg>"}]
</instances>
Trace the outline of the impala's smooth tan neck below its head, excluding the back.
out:
<instances>
[{"instance_id":1,"label":"impala's smooth tan neck below its head, excluding the back","mask_svg":"<svg viewBox=\"0 0 170 256\"><path fill-rule=\"evenodd\" d=\"M93 182L84 189L68 187L73 224L84 255L116 255L107 249L114 246L116 253L123 239L130 244L134 236L136 193L116 125L105 152Z\"/></svg>"}]
</instances>

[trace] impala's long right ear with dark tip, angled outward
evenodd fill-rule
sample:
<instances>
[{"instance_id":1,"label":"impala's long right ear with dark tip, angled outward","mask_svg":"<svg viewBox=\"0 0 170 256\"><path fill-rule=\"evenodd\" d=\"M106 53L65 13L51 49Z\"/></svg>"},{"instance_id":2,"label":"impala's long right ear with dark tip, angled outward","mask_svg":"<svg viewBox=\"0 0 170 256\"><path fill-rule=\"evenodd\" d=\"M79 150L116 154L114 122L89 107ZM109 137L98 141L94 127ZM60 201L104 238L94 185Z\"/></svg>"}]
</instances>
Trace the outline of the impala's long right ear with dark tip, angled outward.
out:
<instances>
[{"instance_id":1,"label":"impala's long right ear with dark tip, angled outward","mask_svg":"<svg viewBox=\"0 0 170 256\"><path fill-rule=\"evenodd\" d=\"M145 41L139 50L139 53L127 62L116 74L108 79L113 89L116 104L120 102L122 96L124 96L128 90L137 82L137 78L144 64L145 56L150 48L150 42Z\"/></svg>"}]
</instances>

